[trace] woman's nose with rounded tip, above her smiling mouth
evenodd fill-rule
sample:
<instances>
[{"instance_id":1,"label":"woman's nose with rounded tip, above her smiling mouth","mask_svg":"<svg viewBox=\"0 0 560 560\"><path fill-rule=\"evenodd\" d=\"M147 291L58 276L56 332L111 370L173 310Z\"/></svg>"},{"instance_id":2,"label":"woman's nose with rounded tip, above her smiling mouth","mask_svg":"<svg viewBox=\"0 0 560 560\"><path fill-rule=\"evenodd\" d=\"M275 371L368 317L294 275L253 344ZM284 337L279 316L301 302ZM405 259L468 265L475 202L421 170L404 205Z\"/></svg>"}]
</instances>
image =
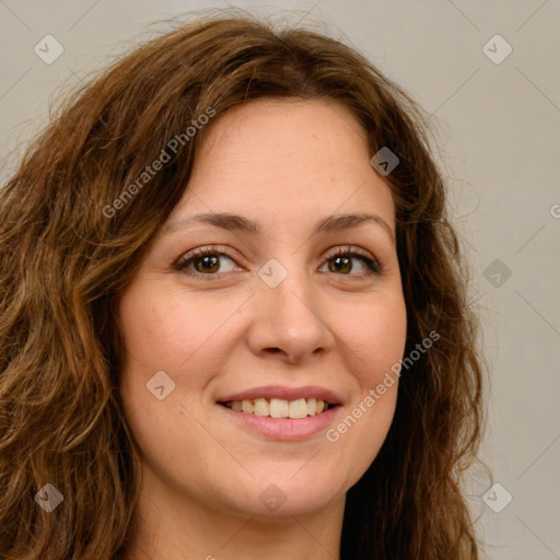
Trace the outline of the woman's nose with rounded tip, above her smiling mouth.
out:
<instances>
[{"instance_id":1,"label":"woman's nose with rounded tip, above her smiling mouth","mask_svg":"<svg viewBox=\"0 0 560 560\"><path fill-rule=\"evenodd\" d=\"M253 306L248 345L256 355L304 363L332 349L335 337L313 280L294 266L276 288L259 280Z\"/></svg>"}]
</instances>

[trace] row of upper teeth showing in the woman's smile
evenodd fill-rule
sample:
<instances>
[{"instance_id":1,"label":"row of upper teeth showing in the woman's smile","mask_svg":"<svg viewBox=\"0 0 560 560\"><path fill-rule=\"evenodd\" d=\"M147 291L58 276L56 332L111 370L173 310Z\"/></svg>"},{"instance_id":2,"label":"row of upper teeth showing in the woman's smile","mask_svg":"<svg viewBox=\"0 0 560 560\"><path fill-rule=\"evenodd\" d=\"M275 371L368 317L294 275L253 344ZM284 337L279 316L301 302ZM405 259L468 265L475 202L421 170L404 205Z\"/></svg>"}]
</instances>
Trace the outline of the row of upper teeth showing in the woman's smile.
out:
<instances>
[{"instance_id":1,"label":"row of upper teeth showing in the woman's smile","mask_svg":"<svg viewBox=\"0 0 560 560\"><path fill-rule=\"evenodd\" d=\"M299 398L285 400L283 398L255 398L246 400L230 400L228 408L236 412L246 412L272 418L305 418L315 416L328 408L328 404L317 398Z\"/></svg>"}]
</instances>

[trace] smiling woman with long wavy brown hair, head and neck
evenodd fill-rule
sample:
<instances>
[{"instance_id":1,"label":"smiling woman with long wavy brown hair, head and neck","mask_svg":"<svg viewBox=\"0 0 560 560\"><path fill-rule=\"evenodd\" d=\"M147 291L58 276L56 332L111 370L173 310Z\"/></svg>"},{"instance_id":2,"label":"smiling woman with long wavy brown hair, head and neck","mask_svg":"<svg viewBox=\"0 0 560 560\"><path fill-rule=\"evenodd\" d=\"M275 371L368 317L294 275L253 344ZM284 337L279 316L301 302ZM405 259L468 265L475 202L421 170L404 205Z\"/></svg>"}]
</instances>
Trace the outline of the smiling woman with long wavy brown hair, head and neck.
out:
<instances>
[{"instance_id":1,"label":"smiling woman with long wavy brown hair, head and neck","mask_svg":"<svg viewBox=\"0 0 560 560\"><path fill-rule=\"evenodd\" d=\"M0 556L480 558L444 202L330 38L219 14L95 79L0 191Z\"/></svg>"}]
</instances>

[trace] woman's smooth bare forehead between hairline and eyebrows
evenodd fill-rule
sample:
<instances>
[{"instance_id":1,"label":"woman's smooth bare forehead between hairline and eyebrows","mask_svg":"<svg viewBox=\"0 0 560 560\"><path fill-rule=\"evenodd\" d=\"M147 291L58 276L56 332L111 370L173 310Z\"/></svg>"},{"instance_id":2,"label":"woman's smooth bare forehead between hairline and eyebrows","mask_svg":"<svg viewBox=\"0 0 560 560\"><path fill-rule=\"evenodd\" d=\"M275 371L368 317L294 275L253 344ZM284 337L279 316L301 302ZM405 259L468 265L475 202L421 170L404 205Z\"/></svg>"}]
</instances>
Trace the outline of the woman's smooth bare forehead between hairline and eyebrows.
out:
<instances>
[{"instance_id":1,"label":"woman's smooth bare forehead between hairline and eyebrows","mask_svg":"<svg viewBox=\"0 0 560 560\"><path fill-rule=\"evenodd\" d=\"M373 171L365 132L324 100L258 100L230 108L205 130L192 174L171 218L229 210L305 219L310 212L381 212L393 198Z\"/></svg>"}]
</instances>

